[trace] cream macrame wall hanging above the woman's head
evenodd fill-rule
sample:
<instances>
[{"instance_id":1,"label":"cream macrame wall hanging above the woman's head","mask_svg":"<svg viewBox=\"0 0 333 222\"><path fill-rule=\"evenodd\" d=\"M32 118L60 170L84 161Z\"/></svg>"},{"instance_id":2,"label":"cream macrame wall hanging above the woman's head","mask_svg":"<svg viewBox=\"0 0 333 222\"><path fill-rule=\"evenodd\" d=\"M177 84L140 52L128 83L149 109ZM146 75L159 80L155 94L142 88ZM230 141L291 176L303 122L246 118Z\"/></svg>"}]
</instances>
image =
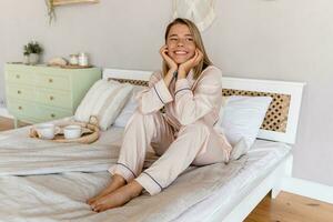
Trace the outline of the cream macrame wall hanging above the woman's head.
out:
<instances>
[{"instance_id":1,"label":"cream macrame wall hanging above the woman's head","mask_svg":"<svg viewBox=\"0 0 333 222\"><path fill-rule=\"evenodd\" d=\"M215 19L214 7L215 0L173 0L173 18L190 19L204 31Z\"/></svg>"}]
</instances>

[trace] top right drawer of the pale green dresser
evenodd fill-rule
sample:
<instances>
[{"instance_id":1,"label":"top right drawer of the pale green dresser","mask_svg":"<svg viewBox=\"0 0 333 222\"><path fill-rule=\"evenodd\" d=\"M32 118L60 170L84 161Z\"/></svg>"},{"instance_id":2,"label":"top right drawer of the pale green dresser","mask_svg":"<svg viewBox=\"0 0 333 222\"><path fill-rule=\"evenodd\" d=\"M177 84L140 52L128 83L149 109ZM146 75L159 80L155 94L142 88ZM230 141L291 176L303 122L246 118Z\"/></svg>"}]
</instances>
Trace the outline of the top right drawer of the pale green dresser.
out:
<instances>
[{"instance_id":1,"label":"top right drawer of the pale green dresser","mask_svg":"<svg viewBox=\"0 0 333 222\"><path fill-rule=\"evenodd\" d=\"M37 74L37 85L47 89L70 90L70 78L67 75Z\"/></svg>"}]
</instances>

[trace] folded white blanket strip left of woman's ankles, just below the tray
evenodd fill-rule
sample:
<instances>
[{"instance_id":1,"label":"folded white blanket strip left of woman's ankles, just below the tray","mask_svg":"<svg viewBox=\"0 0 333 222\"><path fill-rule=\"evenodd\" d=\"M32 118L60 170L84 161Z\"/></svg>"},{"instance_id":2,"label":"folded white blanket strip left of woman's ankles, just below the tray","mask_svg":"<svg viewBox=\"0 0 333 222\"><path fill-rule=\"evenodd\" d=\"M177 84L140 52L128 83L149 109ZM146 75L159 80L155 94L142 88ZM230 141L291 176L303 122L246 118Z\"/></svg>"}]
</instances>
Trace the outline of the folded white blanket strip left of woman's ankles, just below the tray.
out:
<instances>
[{"instance_id":1,"label":"folded white blanket strip left of woman's ankles, just below the tray","mask_svg":"<svg viewBox=\"0 0 333 222\"><path fill-rule=\"evenodd\" d=\"M100 172L117 162L119 145L57 143L28 138L29 128L0 134L0 175Z\"/></svg>"}]
</instances>

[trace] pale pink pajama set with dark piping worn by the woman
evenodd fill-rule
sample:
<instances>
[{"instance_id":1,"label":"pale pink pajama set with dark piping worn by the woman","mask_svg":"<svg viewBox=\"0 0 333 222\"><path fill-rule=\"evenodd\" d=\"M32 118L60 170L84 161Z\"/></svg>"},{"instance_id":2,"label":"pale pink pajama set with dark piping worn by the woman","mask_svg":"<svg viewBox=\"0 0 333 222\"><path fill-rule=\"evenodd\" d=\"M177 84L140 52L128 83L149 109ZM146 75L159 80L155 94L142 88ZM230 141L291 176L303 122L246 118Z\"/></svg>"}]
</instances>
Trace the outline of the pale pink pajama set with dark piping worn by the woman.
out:
<instances>
[{"instance_id":1,"label":"pale pink pajama set with dark piping worn by the woman","mask_svg":"<svg viewBox=\"0 0 333 222\"><path fill-rule=\"evenodd\" d=\"M161 72L152 74L149 89L124 131L119 161L109 172L135 180L151 195L161 192L190 164L228 162L231 145L219 129L222 103L221 71L210 65L198 80L173 80L169 89ZM165 107L165 113L160 109ZM143 170L151 145L160 158Z\"/></svg>"}]
</instances>

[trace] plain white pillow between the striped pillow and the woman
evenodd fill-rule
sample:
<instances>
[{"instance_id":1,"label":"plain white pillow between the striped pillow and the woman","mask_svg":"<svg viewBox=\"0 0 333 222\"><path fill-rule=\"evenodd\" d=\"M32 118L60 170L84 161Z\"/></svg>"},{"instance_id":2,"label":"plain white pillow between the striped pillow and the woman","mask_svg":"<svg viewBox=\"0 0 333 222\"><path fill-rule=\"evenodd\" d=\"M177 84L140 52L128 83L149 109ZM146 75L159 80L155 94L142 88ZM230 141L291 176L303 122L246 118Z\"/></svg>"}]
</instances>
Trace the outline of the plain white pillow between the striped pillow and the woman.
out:
<instances>
[{"instance_id":1,"label":"plain white pillow between the striped pillow and the woman","mask_svg":"<svg viewBox=\"0 0 333 222\"><path fill-rule=\"evenodd\" d=\"M130 118L133 115L133 113L135 112L135 110L138 108L135 97L137 97L138 92L140 92L142 90L144 90L144 87L133 85L131 99L129 99L128 103L124 105L124 108L122 109L122 111L120 112L118 118L115 119L115 121L113 123L114 127L124 128L128 124Z\"/></svg>"}]
</instances>

